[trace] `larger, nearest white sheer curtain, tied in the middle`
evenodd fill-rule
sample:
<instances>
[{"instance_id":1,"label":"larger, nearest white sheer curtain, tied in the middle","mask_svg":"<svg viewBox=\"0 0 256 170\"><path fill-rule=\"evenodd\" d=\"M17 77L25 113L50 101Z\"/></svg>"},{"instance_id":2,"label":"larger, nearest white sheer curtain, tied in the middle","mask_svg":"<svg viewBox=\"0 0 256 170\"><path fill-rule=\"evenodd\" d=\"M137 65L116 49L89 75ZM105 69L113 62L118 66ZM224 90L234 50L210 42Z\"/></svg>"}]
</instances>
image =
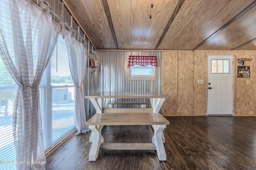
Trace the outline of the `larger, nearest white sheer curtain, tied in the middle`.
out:
<instances>
[{"instance_id":1,"label":"larger, nearest white sheer curtain, tied in the middle","mask_svg":"<svg viewBox=\"0 0 256 170\"><path fill-rule=\"evenodd\" d=\"M13 111L17 170L45 169L39 83L60 24L30 0L0 0L0 57L18 84Z\"/></svg>"}]
</instances>

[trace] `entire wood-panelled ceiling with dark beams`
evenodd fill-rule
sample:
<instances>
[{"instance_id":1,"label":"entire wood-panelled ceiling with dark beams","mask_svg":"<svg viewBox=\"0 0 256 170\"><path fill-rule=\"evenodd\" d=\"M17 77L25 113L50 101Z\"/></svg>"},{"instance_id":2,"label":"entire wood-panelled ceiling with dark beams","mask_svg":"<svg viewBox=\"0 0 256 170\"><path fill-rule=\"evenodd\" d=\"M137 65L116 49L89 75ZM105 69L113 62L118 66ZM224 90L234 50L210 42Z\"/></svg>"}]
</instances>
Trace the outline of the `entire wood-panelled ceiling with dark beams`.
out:
<instances>
[{"instance_id":1,"label":"entire wood-panelled ceiling with dark beams","mask_svg":"<svg viewBox=\"0 0 256 170\"><path fill-rule=\"evenodd\" d=\"M62 1L96 49L256 50L256 0Z\"/></svg>"}]
</instances>

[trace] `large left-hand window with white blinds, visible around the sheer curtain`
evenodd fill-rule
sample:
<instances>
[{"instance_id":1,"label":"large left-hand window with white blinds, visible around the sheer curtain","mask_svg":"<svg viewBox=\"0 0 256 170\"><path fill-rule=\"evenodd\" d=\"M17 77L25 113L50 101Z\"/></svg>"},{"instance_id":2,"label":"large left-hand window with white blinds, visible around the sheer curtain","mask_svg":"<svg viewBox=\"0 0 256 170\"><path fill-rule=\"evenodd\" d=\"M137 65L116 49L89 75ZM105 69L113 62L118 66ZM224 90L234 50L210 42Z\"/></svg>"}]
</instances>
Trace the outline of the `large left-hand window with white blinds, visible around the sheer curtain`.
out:
<instances>
[{"instance_id":1,"label":"large left-hand window with white blinds, visible around the sheer curtain","mask_svg":"<svg viewBox=\"0 0 256 170\"><path fill-rule=\"evenodd\" d=\"M39 88L46 150L75 128L74 85L70 76L66 43L61 35ZM12 111L16 92L17 84L0 59L0 160L15 160ZM4 166L3 169L16 168L15 164L0 166Z\"/></svg>"}]
</instances>

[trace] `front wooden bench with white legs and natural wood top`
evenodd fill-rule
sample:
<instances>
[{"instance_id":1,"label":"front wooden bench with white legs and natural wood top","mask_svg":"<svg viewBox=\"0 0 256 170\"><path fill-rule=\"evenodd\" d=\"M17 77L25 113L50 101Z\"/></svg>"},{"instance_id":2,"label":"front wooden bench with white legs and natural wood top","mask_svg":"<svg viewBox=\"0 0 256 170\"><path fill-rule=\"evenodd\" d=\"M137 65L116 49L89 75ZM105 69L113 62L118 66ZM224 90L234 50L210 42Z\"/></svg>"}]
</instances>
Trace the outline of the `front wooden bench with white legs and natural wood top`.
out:
<instances>
[{"instance_id":1,"label":"front wooden bench with white legs and natural wood top","mask_svg":"<svg viewBox=\"0 0 256 170\"><path fill-rule=\"evenodd\" d=\"M105 113L96 113L86 122L86 125L89 126L93 133L92 139L90 139L92 146L89 153L89 161L96 160L100 149L156 150L158 159L166 160L162 132L166 125L169 125L169 121L160 113L148 113L152 111L152 108L141 108L140 111L142 113L138 113L135 110L140 110L140 108L128 108L122 113L117 113L120 109L104 109ZM152 143L104 143L104 137L101 135L101 129L104 125L152 125L154 129Z\"/></svg>"}]
</instances>

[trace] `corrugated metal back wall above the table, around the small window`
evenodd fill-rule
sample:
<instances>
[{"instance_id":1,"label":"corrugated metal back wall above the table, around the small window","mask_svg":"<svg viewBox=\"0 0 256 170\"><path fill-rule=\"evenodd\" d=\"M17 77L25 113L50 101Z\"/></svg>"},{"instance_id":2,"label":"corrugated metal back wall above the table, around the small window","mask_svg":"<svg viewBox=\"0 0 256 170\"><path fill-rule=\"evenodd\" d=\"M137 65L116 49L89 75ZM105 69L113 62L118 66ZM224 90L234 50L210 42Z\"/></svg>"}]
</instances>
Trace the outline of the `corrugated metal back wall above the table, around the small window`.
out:
<instances>
[{"instance_id":1,"label":"corrugated metal back wall above the table, around the small window","mask_svg":"<svg viewBox=\"0 0 256 170\"><path fill-rule=\"evenodd\" d=\"M156 80L129 80L129 69L127 68L129 55L154 55L158 57L156 68ZM103 68L101 91L123 91L123 92L161 92L161 61L162 52L142 51L97 51L99 64Z\"/></svg>"}]
</instances>

